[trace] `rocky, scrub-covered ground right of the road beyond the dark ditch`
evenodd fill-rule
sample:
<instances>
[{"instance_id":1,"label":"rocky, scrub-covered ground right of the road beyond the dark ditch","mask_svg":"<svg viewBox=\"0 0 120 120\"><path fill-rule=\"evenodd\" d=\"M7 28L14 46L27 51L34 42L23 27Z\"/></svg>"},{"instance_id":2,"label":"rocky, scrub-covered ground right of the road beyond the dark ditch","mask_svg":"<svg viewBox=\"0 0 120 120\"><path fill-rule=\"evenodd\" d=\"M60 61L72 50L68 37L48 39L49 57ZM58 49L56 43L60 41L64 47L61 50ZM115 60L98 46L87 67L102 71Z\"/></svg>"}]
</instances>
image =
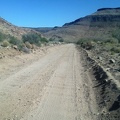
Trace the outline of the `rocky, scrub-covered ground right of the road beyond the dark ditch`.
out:
<instances>
[{"instance_id":1,"label":"rocky, scrub-covered ground right of the road beyond the dark ditch","mask_svg":"<svg viewBox=\"0 0 120 120\"><path fill-rule=\"evenodd\" d=\"M106 40L82 38L77 42L91 58L104 66L115 79L120 81L120 39L119 32L114 32L114 37Z\"/></svg>"}]
</instances>

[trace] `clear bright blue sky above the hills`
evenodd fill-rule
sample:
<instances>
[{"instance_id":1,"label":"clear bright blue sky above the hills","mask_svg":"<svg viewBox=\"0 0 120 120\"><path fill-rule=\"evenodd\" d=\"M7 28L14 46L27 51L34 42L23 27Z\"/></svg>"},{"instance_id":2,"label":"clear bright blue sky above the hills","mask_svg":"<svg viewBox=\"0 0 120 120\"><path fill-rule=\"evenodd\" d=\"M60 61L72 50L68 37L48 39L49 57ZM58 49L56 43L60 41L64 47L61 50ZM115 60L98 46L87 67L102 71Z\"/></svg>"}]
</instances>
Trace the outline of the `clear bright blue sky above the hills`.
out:
<instances>
[{"instance_id":1,"label":"clear bright blue sky above the hills","mask_svg":"<svg viewBox=\"0 0 120 120\"><path fill-rule=\"evenodd\" d=\"M120 7L120 0L0 0L0 16L17 26L53 27L103 7Z\"/></svg>"}]
</instances>

